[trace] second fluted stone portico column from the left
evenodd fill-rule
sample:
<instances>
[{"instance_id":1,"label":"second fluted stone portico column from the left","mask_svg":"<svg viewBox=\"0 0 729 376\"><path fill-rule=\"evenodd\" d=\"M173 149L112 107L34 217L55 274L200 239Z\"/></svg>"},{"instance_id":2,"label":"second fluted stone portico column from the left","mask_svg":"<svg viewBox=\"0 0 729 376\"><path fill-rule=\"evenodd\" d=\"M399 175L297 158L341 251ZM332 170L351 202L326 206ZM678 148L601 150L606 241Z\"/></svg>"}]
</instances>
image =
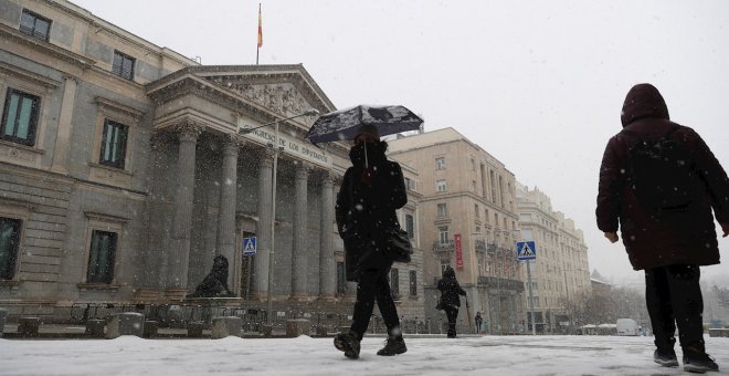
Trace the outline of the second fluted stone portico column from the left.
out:
<instances>
[{"instance_id":1,"label":"second fluted stone portico column from the left","mask_svg":"<svg viewBox=\"0 0 729 376\"><path fill-rule=\"evenodd\" d=\"M237 294L240 270L235 268L235 191L237 187L237 148L241 143L236 135L225 135L222 140L223 167L220 181L220 210L218 211L218 242L215 254L228 259L230 278L228 285ZM231 282L231 281L229 281Z\"/></svg>"}]
</instances>

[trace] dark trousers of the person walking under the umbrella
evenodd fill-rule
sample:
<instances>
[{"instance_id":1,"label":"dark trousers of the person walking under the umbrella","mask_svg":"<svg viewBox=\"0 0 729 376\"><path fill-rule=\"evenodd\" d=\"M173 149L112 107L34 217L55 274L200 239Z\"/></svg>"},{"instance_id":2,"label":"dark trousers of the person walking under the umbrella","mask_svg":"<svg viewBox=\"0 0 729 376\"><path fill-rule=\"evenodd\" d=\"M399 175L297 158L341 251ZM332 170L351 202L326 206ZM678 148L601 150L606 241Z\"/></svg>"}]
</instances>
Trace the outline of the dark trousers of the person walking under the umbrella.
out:
<instances>
[{"instance_id":1,"label":"dark trousers of the person walking under the umbrella","mask_svg":"<svg viewBox=\"0 0 729 376\"><path fill-rule=\"evenodd\" d=\"M389 265L379 268L368 268L360 271L357 282L357 302L355 302L355 314L352 315L352 332L362 341L364 332L370 324L370 317L374 310L374 300L380 307L382 320L388 328L388 334L393 335L393 330L400 327L400 317L398 309L390 293L390 282L388 281Z\"/></svg>"}]
</instances>

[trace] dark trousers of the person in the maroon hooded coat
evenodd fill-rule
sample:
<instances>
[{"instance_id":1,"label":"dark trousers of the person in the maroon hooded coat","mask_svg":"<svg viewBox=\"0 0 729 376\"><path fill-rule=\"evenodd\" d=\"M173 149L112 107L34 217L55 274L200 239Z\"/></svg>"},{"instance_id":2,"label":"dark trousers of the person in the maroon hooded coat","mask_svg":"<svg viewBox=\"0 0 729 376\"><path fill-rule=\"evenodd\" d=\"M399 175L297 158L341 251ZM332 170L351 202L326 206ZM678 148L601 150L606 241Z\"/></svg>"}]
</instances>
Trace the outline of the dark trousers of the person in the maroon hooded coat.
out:
<instances>
[{"instance_id":1,"label":"dark trousers of the person in the maroon hooded coat","mask_svg":"<svg viewBox=\"0 0 729 376\"><path fill-rule=\"evenodd\" d=\"M676 325L680 346L704 348L704 300L698 265L669 265L645 270L645 301L658 349L674 347Z\"/></svg>"}]
</instances>

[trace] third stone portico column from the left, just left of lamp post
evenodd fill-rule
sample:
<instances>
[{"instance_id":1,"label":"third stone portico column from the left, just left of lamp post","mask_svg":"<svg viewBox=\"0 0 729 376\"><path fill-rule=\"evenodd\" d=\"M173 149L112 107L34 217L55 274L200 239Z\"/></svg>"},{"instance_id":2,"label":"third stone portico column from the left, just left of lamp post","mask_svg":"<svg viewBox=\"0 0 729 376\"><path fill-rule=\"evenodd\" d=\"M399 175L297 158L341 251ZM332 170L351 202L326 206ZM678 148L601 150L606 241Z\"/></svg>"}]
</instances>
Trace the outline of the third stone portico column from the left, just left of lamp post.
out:
<instances>
[{"instance_id":1,"label":"third stone portico column from the left, just left of lamp post","mask_svg":"<svg viewBox=\"0 0 729 376\"><path fill-rule=\"evenodd\" d=\"M268 293L268 258L271 257L271 215L273 188L273 150L266 148L261 154L258 167L258 207L256 223L257 252L253 271L253 299L264 300Z\"/></svg>"}]
</instances>

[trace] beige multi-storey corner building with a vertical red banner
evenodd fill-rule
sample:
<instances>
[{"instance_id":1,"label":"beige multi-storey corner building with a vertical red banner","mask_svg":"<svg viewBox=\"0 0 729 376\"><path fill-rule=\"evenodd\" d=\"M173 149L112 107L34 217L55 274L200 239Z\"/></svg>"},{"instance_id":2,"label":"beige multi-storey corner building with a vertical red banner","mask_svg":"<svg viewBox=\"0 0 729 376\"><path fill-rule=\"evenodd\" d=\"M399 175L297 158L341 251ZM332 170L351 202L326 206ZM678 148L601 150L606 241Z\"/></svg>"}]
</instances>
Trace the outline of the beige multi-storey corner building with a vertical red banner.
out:
<instances>
[{"instance_id":1,"label":"beige multi-storey corner building with a vertical red banner","mask_svg":"<svg viewBox=\"0 0 729 376\"><path fill-rule=\"evenodd\" d=\"M473 332L476 312L483 331L522 333L525 297L516 260L518 217L516 180L503 163L453 128L401 136L389 142L389 155L415 167L422 194L419 222L425 274L425 315L435 311L437 280L446 267L466 290L459 325Z\"/></svg>"}]
</instances>

